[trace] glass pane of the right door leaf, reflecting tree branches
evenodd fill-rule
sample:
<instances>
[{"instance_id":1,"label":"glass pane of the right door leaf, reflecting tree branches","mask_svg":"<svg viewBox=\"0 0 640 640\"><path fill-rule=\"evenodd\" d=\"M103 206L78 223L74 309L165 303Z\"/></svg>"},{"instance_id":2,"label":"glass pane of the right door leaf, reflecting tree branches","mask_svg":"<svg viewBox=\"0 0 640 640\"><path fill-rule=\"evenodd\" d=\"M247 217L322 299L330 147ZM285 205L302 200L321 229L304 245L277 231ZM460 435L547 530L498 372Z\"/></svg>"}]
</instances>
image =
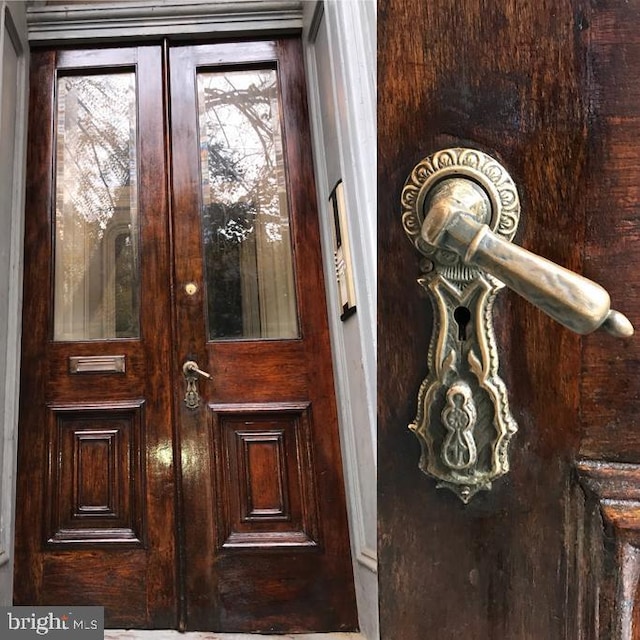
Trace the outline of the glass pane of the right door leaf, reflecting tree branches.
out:
<instances>
[{"instance_id":1,"label":"glass pane of the right door leaf, reflecting tree branches","mask_svg":"<svg viewBox=\"0 0 640 640\"><path fill-rule=\"evenodd\" d=\"M198 74L209 340L296 338L277 74Z\"/></svg>"}]
</instances>

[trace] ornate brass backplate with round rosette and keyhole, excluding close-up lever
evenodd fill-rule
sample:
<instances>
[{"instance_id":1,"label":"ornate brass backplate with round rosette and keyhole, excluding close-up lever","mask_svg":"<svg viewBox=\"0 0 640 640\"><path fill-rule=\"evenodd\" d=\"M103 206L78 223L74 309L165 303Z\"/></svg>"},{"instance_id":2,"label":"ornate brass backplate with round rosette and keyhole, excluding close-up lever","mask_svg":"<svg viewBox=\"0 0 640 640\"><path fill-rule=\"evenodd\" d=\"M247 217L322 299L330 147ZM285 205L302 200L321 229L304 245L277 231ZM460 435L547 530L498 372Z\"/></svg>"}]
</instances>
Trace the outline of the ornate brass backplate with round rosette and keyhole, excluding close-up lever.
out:
<instances>
[{"instance_id":1,"label":"ornate brass backplate with round rosette and keyhole, excluding close-up lever","mask_svg":"<svg viewBox=\"0 0 640 640\"><path fill-rule=\"evenodd\" d=\"M443 199L449 207L459 202L507 241L517 230L520 202L507 171L473 149L445 149L425 158L402 191L402 222L425 257L418 282L434 311L428 375L409 426L422 447L420 468L467 503L509 470L508 446L517 425L498 375L493 329L493 303L504 285L466 263L464 252L461 257L434 239L437 225L425 224L425 218L435 220Z\"/></svg>"}]
</instances>

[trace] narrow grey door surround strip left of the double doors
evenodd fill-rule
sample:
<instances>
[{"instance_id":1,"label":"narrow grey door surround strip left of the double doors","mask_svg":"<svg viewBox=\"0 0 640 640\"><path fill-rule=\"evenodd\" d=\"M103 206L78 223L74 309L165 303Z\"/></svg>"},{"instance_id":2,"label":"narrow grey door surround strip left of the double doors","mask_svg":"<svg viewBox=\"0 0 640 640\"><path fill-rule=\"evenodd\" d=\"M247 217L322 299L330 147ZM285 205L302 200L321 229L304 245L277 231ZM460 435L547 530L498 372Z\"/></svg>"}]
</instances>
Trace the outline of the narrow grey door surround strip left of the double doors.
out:
<instances>
[{"instance_id":1,"label":"narrow grey door surround strip left of the double doors","mask_svg":"<svg viewBox=\"0 0 640 640\"><path fill-rule=\"evenodd\" d=\"M23 2L0 1L0 605L11 604L27 114Z\"/></svg>"}]
</instances>

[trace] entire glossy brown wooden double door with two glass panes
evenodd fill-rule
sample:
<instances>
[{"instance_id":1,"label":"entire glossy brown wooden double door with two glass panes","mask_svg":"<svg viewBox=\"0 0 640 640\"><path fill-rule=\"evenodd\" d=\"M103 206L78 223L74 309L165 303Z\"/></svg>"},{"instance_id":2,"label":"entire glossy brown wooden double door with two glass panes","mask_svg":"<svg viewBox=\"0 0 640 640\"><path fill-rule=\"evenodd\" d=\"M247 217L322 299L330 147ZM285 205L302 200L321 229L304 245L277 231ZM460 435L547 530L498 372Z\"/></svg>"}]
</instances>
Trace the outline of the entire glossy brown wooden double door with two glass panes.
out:
<instances>
[{"instance_id":1,"label":"entire glossy brown wooden double door with two glass panes","mask_svg":"<svg viewBox=\"0 0 640 640\"><path fill-rule=\"evenodd\" d=\"M353 629L299 40L36 51L29 127L16 604Z\"/></svg>"}]
</instances>

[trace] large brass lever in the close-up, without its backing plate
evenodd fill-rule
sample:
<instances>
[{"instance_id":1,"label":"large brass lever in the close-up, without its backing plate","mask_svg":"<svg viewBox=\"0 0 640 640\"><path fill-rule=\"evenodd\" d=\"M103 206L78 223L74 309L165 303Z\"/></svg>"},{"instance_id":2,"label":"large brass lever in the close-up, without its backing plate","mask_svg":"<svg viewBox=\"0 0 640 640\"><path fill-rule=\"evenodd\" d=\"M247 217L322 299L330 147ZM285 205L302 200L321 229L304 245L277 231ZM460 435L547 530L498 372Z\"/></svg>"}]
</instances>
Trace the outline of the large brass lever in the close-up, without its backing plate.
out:
<instances>
[{"instance_id":1,"label":"large brass lever in the close-up, without its backing plate","mask_svg":"<svg viewBox=\"0 0 640 640\"><path fill-rule=\"evenodd\" d=\"M495 276L577 333L602 327L617 337L633 335L633 325L610 309L609 294L599 284L493 233L479 213L488 207L488 195L475 182L446 179L429 194L422 238Z\"/></svg>"}]
</instances>

